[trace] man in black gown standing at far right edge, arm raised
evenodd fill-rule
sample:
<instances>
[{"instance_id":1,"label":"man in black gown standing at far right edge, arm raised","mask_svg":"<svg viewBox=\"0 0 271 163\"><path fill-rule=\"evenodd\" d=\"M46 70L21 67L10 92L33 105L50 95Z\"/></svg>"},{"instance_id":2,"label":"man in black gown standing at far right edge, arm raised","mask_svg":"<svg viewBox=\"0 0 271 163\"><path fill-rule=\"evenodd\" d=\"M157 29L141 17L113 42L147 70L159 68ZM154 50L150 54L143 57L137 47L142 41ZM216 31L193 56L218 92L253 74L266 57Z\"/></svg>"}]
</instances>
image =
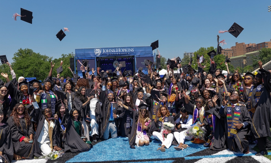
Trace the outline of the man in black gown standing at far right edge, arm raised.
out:
<instances>
[{"instance_id":1,"label":"man in black gown standing at far right edge, arm raised","mask_svg":"<svg viewBox=\"0 0 271 163\"><path fill-rule=\"evenodd\" d=\"M252 96L247 101L249 114L252 117L251 130L254 137L258 141L259 152L256 156L267 154L267 150L271 149L271 143L267 137L271 136L270 120L271 120L271 74L264 70L262 62L258 62L260 70L254 78L254 87ZM262 83L262 80L264 83Z\"/></svg>"}]
</instances>

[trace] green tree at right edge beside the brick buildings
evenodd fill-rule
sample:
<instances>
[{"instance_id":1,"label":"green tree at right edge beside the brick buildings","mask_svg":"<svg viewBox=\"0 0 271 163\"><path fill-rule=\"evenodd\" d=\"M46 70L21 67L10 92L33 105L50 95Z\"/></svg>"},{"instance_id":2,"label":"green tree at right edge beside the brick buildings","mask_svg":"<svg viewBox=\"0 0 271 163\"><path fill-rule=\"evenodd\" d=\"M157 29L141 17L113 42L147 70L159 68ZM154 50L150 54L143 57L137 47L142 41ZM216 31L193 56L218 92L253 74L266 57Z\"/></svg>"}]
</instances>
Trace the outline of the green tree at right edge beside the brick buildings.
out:
<instances>
[{"instance_id":1,"label":"green tree at right edge beside the brick buildings","mask_svg":"<svg viewBox=\"0 0 271 163\"><path fill-rule=\"evenodd\" d=\"M252 67L254 67L254 69L258 68L258 61L261 61L263 65L270 61L271 49L270 48L262 48L261 50L259 50L258 56L255 57L255 56L251 55L251 57L253 59Z\"/></svg>"}]
</instances>

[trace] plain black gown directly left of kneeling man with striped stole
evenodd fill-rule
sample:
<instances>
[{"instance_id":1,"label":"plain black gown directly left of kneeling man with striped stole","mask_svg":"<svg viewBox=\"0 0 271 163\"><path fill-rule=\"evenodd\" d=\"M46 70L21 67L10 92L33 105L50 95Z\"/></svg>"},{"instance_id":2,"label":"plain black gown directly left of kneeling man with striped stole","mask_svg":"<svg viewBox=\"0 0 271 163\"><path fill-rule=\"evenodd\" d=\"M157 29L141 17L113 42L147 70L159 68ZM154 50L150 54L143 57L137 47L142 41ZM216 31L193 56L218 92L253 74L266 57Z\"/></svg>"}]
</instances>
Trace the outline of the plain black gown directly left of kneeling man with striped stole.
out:
<instances>
[{"instance_id":1,"label":"plain black gown directly left of kneeling man with striped stole","mask_svg":"<svg viewBox=\"0 0 271 163\"><path fill-rule=\"evenodd\" d=\"M211 141L212 143L210 145L210 149L214 151L227 149L224 117L221 117L219 115L218 113L219 109L220 109L220 106L216 105L214 108L211 108L206 111L206 113L213 114L214 116L216 116L215 128L214 128L214 133L213 133L214 136L212 138L212 141ZM208 122L206 123L209 125Z\"/></svg>"}]
</instances>

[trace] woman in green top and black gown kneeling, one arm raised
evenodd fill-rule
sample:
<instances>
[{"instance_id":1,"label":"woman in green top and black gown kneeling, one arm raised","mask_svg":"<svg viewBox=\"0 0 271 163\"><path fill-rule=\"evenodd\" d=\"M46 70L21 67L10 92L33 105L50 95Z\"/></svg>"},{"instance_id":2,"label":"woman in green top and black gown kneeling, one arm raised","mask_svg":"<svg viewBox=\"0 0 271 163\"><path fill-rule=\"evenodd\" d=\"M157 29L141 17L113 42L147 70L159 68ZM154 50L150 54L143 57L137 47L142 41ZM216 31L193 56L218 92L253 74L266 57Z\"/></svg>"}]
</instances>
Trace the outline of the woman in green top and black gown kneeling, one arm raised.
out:
<instances>
[{"instance_id":1,"label":"woman in green top and black gown kneeling, one arm raised","mask_svg":"<svg viewBox=\"0 0 271 163\"><path fill-rule=\"evenodd\" d=\"M65 100L65 115L62 119L61 125L65 125L65 152L70 150L72 153L86 152L92 148L92 144L89 140L83 140L81 137L85 137L82 134L81 127L81 114L77 109L72 109L69 113L68 103Z\"/></svg>"}]
</instances>

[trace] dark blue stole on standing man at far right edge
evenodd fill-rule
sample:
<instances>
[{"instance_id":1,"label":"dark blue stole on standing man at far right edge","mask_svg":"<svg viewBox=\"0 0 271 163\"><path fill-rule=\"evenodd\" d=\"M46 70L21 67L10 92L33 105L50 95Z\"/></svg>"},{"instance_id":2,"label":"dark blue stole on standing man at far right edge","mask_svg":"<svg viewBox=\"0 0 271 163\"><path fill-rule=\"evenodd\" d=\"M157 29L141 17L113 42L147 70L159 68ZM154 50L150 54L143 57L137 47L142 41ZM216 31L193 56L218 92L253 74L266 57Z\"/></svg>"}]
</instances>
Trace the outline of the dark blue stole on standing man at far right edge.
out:
<instances>
[{"instance_id":1,"label":"dark blue stole on standing man at far right edge","mask_svg":"<svg viewBox=\"0 0 271 163\"><path fill-rule=\"evenodd\" d=\"M261 96L261 87L262 85L258 85L257 86L257 89L256 89L256 92L255 92L255 106L253 108L251 108L251 96L252 96L252 91L253 91L253 88L254 88L254 85L250 88L250 91L249 91L249 98L247 100L247 109L249 111L249 114L250 114L250 117L253 118L254 116L254 113L255 113L255 110L257 108L257 105L258 105L258 102L260 100L260 96Z\"/></svg>"}]
</instances>

